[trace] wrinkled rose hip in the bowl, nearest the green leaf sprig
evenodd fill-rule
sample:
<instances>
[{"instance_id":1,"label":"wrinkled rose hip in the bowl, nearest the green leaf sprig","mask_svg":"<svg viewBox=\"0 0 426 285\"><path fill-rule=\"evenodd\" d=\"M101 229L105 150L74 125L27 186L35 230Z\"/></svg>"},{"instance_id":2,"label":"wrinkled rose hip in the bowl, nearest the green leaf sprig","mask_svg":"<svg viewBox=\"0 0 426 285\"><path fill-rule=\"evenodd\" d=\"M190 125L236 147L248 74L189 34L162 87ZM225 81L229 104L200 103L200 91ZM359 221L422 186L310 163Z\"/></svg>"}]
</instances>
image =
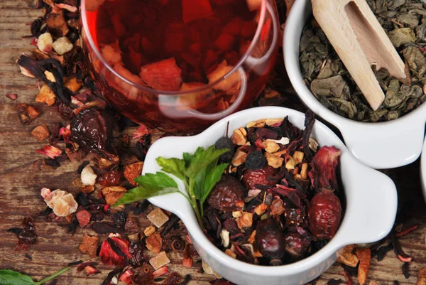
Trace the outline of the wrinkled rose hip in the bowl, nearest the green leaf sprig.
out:
<instances>
[{"instance_id":1,"label":"wrinkled rose hip in the bowl, nearest the green leaf sprig","mask_svg":"<svg viewBox=\"0 0 426 285\"><path fill-rule=\"evenodd\" d=\"M244 206L244 191L239 181L232 176L222 176L214 185L207 203L222 211L241 210Z\"/></svg>"}]
</instances>

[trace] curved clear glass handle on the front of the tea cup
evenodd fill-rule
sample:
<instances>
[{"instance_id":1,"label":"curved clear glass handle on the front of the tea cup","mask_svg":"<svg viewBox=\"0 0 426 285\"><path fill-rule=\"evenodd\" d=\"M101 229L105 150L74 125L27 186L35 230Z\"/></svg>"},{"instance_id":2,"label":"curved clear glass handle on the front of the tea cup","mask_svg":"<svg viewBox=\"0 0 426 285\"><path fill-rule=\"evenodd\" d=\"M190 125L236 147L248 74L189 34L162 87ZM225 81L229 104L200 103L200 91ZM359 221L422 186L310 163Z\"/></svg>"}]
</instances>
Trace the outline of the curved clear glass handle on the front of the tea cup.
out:
<instances>
[{"instance_id":1,"label":"curved clear glass handle on the front of the tea cup","mask_svg":"<svg viewBox=\"0 0 426 285\"><path fill-rule=\"evenodd\" d=\"M211 121L222 119L223 117L226 117L229 114L232 114L233 112L236 111L236 109L239 107L239 105L243 101L244 95L246 94L246 90L247 90L246 72L244 72L243 68L238 68L236 72L239 72L241 77L240 92L238 97L236 97L235 102L232 103L231 106L229 106L229 108L225 109L224 111L213 113L213 114L205 114L200 111L197 111L196 109L187 109L185 111L180 111L178 109L172 109L170 107L166 107L168 102L170 102L170 96L159 95L158 105L160 107L161 112L163 112L163 114L173 119L192 117L195 119L204 119L204 120L211 120Z\"/></svg>"}]
</instances>

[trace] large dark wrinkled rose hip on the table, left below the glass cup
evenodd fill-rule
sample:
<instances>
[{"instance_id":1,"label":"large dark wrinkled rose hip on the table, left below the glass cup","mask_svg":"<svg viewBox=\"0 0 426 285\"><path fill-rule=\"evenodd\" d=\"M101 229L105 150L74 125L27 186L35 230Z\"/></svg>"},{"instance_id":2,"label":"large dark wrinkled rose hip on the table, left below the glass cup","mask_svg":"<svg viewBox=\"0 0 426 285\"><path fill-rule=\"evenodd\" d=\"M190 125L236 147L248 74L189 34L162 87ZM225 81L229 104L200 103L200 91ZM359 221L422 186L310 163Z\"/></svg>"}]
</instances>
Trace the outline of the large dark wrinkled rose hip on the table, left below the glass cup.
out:
<instances>
[{"instance_id":1,"label":"large dark wrinkled rose hip on the table, left below the glass cup","mask_svg":"<svg viewBox=\"0 0 426 285\"><path fill-rule=\"evenodd\" d=\"M103 157L114 153L112 117L104 109L89 108L71 121L71 139L83 149Z\"/></svg>"}]
</instances>

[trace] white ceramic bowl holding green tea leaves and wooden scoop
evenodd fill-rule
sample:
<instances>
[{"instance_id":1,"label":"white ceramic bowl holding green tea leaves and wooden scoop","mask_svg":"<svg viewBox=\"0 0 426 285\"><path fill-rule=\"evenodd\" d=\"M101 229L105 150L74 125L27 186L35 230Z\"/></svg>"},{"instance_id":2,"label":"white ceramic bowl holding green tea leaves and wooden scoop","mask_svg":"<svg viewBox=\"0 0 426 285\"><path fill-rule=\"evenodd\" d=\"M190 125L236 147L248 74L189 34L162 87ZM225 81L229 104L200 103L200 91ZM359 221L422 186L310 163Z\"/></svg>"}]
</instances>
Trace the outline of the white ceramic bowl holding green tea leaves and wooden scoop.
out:
<instances>
[{"instance_id":1,"label":"white ceramic bowl holding green tea leaves and wooden scoop","mask_svg":"<svg viewBox=\"0 0 426 285\"><path fill-rule=\"evenodd\" d=\"M285 23L285 68L297 95L307 107L342 132L349 151L367 166L395 168L415 161L422 151L426 104L391 122L356 122L324 107L303 83L299 64L300 36L311 15L311 1L297 0Z\"/></svg>"}]
</instances>

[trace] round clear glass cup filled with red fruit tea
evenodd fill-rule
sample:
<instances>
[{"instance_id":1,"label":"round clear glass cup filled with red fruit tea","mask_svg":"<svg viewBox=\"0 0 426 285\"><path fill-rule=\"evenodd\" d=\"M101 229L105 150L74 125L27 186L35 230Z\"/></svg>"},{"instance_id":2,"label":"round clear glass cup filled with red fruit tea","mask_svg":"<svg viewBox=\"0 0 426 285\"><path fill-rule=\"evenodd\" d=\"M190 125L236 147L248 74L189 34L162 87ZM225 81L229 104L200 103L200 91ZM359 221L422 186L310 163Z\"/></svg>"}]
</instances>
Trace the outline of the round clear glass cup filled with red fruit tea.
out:
<instances>
[{"instance_id":1,"label":"round clear glass cup filled with red fruit tea","mask_svg":"<svg viewBox=\"0 0 426 285\"><path fill-rule=\"evenodd\" d=\"M278 53L274 0L82 0L89 72L112 107L198 131L249 107Z\"/></svg>"}]
</instances>

